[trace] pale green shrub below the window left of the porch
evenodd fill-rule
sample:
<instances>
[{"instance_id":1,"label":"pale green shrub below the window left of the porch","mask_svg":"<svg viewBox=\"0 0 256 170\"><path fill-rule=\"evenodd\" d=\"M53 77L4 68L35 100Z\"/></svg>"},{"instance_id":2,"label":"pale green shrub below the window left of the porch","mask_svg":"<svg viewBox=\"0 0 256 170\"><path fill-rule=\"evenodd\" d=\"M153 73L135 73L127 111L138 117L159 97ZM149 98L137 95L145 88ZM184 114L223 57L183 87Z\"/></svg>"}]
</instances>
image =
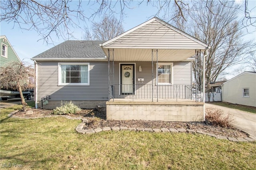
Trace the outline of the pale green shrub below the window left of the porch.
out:
<instances>
[{"instance_id":1,"label":"pale green shrub below the window left of the porch","mask_svg":"<svg viewBox=\"0 0 256 170\"><path fill-rule=\"evenodd\" d=\"M75 114L79 111L81 111L81 109L78 106L74 105L72 101L70 101L69 103L65 103L64 105L62 105L61 103L61 107L56 107L56 109L53 109L52 113L54 115L69 115Z\"/></svg>"}]
</instances>

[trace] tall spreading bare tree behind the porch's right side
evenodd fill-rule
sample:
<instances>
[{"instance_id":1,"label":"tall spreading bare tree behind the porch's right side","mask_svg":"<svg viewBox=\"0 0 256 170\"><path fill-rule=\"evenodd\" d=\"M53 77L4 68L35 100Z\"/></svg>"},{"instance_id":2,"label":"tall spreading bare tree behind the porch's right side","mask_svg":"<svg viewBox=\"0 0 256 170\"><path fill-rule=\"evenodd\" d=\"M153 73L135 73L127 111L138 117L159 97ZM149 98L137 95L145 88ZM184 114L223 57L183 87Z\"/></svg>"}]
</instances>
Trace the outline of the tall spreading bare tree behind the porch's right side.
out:
<instances>
[{"instance_id":1,"label":"tall spreading bare tree behind the porch's right side","mask_svg":"<svg viewBox=\"0 0 256 170\"><path fill-rule=\"evenodd\" d=\"M254 50L255 43L243 40L246 33L238 19L239 9L239 4L231 2L201 0L195 2L187 14L190 22L186 25L176 22L179 28L210 46L205 63L206 82L216 81L224 70L240 63ZM202 72L202 64L199 70Z\"/></svg>"}]
</instances>

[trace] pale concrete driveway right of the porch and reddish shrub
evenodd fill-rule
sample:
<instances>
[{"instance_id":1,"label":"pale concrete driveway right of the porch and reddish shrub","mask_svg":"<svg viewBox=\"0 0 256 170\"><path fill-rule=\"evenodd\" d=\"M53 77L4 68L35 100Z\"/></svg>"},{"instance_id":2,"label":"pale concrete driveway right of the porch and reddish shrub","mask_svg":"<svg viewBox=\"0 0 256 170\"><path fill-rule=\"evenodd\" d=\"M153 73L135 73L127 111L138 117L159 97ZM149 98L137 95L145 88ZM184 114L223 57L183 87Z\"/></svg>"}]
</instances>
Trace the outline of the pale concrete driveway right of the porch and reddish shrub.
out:
<instances>
[{"instance_id":1,"label":"pale concrete driveway right of the porch and reddish shrub","mask_svg":"<svg viewBox=\"0 0 256 170\"><path fill-rule=\"evenodd\" d=\"M222 107L213 105L211 103L205 103L205 108L212 107L221 109L224 113L230 113L234 116L234 127L247 132L250 135L256 136L256 114L246 111L240 111L238 109L230 109L228 107Z\"/></svg>"}]
</instances>

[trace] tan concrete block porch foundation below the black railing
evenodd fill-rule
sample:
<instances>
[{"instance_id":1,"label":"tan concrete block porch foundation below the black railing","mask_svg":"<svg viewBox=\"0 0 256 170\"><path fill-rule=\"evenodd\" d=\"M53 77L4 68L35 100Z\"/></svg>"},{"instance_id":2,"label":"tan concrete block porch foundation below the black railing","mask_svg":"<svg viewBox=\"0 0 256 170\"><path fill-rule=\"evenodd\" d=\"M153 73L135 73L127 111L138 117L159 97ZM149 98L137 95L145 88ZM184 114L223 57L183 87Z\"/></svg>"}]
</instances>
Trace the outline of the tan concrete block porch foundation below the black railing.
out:
<instances>
[{"instance_id":1,"label":"tan concrete block porch foundation below the black railing","mask_svg":"<svg viewBox=\"0 0 256 170\"><path fill-rule=\"evenodd\" d=\"M107 120L204 121L204 102L108 101Z\"/></svg>"}]
</instances>

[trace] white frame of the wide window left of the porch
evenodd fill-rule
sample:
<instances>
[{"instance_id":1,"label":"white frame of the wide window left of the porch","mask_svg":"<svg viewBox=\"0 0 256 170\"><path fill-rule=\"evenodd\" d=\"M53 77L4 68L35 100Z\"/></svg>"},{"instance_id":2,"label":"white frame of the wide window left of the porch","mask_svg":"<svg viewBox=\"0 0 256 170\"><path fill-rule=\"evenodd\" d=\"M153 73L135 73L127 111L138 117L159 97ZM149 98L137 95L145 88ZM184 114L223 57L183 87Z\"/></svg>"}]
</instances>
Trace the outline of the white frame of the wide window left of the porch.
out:
<instances>
[{"instance_id":1,"label":"white frame of the wide window left of the porch","mask_svg":"<svg viewBox=\"0 0 256 170\"><path fill-rule=\"evenodd\" d=\"M88 65L88 83L61 83L61 65ZM90 63L58 63L58 85L90 85Z\"/></svg>"}]
</instances>

